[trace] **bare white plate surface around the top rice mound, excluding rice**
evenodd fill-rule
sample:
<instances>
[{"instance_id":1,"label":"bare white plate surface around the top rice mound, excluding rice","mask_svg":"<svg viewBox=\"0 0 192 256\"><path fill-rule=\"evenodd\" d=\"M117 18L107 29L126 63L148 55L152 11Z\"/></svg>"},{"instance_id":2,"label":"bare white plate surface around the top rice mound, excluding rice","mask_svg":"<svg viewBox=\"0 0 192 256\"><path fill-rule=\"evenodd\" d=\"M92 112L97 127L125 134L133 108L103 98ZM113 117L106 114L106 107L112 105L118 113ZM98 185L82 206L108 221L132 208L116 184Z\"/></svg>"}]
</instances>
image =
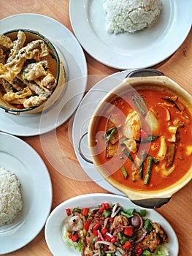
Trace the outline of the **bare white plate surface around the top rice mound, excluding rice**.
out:
<instances>
[{"instance_id":1,"label":"bare white plate surface around the top rice mound, excluding rice","mask_svg":"<svg viewBox=\"0 0 192 256\"><path fill-rule=\"evenodd\" d=\"M151 67L174 53L191 29L191 0L162 0L157 22L134 34L105 29L103 0L70 0L72 28L94 59L118 69Z\"/></svg>"}]
</instances>

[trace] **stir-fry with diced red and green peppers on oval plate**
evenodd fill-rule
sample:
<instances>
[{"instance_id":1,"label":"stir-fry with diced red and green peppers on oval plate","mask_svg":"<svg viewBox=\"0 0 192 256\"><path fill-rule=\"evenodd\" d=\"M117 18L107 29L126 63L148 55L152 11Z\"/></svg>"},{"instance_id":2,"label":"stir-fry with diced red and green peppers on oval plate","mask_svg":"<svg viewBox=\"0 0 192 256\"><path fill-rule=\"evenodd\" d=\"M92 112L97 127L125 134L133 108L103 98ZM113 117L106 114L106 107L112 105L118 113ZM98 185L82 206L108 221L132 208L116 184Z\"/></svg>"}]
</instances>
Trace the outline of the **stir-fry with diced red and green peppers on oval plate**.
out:
<instances>
[{"instance_id":1,"label":"stir-fry with diced red and green peppers on oval plate","mask_svg":"<svg viewBox=\"0 0 192 256\"><path fill-rule=\"evenodd\" d=\"M169 255L168 237L144 209L101 203L97 208L66 208L64 241L82 256Z\"/></svg>"}]
</instances>

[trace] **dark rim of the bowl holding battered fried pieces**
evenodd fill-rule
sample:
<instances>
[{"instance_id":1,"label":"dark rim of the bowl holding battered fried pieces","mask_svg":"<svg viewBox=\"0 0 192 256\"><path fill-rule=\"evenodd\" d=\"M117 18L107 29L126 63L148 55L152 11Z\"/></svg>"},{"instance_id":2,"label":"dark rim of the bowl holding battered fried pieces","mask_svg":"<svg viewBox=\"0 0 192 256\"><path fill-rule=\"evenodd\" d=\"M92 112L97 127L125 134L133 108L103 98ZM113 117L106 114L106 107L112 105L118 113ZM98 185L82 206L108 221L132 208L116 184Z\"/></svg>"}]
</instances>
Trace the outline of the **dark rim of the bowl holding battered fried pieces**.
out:
<instances>
[{"instance_id":1,"label":"dark rim of the bowl holding battered fried pieces","mask_svg":"<svg viewBox=\"0 0 192 256\"><path fill-rule=\"evenodd\" d=\"M23 31L23 32L26 32L26 33L31 33L31 34L37 35L38 37L40 37L41 39L43 39L47 43L47 45L51 48L51 50L53 50L55 60L56 60L56 63L57 63L57 74L56 74L56 85L53 88L53 90L51 91L51 94L50 94L50 96L51 96L53 94L53 92L55 91L56 87L58 86L58 78L59 78L59 75L60 75L60 58L58 56L57 50L55 49L55 46L53 45L52 42L50 42L49 39L47 39L47 37L45 37L44 35L39 33L39 31L35 31L33 29L12 29L12 30L9 30L9 31L5 31L3 34L7 35L7 34L15 33L15 32L18 32L18 31ZM47 99L49 99L49 98L47 98ZM39 108L40 106L41 105L31 107L31 108L15 109L15 108L8 108L8 107L5 107L5 106L0 104L0 108L4 109L6 112L16 113L16 114L23 113L23 112L26 112L26 111L29 111L29 110L34 110L36 108Z\"/></svg>"}]
</instances>

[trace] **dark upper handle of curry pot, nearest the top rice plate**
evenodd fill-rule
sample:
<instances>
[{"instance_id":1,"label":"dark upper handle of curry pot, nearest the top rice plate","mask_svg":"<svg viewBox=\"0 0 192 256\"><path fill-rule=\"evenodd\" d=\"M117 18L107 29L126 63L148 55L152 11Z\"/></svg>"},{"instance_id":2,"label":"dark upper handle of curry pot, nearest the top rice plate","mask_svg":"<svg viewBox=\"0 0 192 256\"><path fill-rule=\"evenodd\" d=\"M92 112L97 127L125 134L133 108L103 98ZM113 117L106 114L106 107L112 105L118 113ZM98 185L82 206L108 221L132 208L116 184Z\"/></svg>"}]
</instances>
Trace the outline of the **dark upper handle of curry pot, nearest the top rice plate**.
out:
<instances>
[{"instance_id":1,"label":"dark upper handle of curry pot, nearest the top rice plate","mask_svg":"<svg viewBox=\"0 0 192 256\"><path fill-rule=\"evenodd\" d=\"M141 78L141 77L152 77L152 76L162 76L164 73L157 69L136 69L129 72L126 78Z\"/></svg>"}]
</instances>

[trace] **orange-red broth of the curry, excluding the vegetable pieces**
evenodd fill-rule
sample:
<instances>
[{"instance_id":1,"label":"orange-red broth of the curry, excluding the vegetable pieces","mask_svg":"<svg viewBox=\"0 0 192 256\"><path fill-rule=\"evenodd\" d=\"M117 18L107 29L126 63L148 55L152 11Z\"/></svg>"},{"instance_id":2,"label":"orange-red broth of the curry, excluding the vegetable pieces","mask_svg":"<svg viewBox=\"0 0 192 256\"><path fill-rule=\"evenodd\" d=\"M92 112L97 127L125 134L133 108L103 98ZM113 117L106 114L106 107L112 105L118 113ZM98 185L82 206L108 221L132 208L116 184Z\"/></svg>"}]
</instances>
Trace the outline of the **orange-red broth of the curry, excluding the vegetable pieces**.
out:
<instances>
[{"instance_id":1,"label":"orange-red broth of the curry, excluding the vegetable pieces","mask_svg":"<svg viewBox=\"0 0 192 256\"><path fill-rule=\"evenodd\" d=\"M99 160L99 165L102 165L102 167L104 167L104 170L106 170L106 176L111 176L111 178L115 181L118 181L119 184L122 184L123 186L129 187L131 189L138 189L143 191L164 189L182 178L191 167L191 157L186 154L186 147L192 146L191 114L188 111L188 106L184 105L178 99L176 102L177 106L179 106L181 111L177 110L177 108L175 108L168 102L165 102L165 100L162 98L174 97L173 94L170 94L166 90L160 91L158 89L141 89L138 92L145 100L147 109L153 109L155 111L156 118L158 119L158 129L155 130L155 135L159 135L160 137L150 143L137 143L137 153L131 155L134 159L136 155L137 157L139 157L139 159L141 159L140 152L145 150L147 154L151 157L157 157L161 145L161 136L165 136L167 144L169 144L168 139L172 138L172 134L169 132L168 127L172 126L173 120L179 118L181 124L178 128L180 132L180 140L177 143L177 150L174 156L174 170L172 171L172 173L164 176L164 165L166 165L165 157L164 160L159 161L155 165L153 164L150 175L150 182L149 184L145 185L144 178L147 172L147 160L145 160L143 165L143 178L140 178L139 167L135 167L131 160L128 159L125 154L123 154L123 146L120 145L120 140L123 139L121 125L125 122L126 116L132 108L134 108L134 110L137 110L132 102L131 94L125 95L123 97L115 97L115 100L112 102L110 110L104 111L102 117L100 117L97 121L96 131L94 132L96 139L96 155ZM166 108L162 107L160 104L166 105L166 108L169 110L171 118L170 121L166 121ZM137 112L139 111L137 110ZM107 159L105 132L107 127L107 121L111 113L120 113L119 124L115 124L116 127L118 125L120 126L118 128L118 135L120 139L118 140L118 149L115 153L115 156ZM150 130L147 129L145 121L143 121L142 118L141 122L142 129L149 133ZM121 167L126 168L128 173L127 178L123 177L123 174L120 170Z\"/></svg>"}]
</instances>

